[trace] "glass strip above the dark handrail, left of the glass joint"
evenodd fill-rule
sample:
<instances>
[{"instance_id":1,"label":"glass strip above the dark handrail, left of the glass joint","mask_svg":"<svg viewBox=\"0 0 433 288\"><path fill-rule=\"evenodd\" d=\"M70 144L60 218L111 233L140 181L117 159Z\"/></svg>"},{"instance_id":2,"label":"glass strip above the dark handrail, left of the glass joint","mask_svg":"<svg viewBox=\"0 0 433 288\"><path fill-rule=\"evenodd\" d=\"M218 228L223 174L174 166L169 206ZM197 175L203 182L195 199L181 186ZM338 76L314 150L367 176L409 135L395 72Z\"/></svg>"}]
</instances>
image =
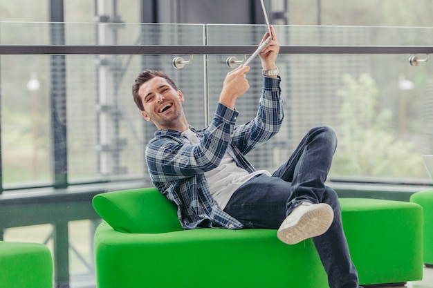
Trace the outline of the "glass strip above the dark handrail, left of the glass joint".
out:
<instances>
[{"instance_id":1,"label":"glass strip above the dark handrail, left of the glass joint","mask_svg":"<svg viewBox=\"0 0 433 288\"><path fill-rule=\"evenodd\" d=\"M0 22L0 44L50 45L50 33L65 45L203 45L203 25L137 23Z\"/></svg>"}]
</instances>

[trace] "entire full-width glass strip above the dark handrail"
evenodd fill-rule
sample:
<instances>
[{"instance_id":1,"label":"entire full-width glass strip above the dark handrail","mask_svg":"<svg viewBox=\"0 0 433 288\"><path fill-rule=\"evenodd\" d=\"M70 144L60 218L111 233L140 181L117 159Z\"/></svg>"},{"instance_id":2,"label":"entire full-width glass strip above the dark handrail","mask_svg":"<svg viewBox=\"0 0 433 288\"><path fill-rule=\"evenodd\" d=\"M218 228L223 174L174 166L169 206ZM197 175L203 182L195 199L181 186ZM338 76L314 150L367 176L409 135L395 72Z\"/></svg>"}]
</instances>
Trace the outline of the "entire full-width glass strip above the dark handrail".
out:
<instances>
[{"instance_id":1,"label":"entire full-width glass strip above the dark handrail","mask_svg":"<svg viewBox=\"0 0 433 288\"><path fill-rule=\"evenodd\" d=\"M282 46L432 46L432 28L275 26ZM1 45L255 46L266 26L239 24L0 22ZM104 43L102 43L104 42ZM72 50L71 50L72 51ZM68 54L74 54L69 52Z\"/></svg>"}]
</instances>

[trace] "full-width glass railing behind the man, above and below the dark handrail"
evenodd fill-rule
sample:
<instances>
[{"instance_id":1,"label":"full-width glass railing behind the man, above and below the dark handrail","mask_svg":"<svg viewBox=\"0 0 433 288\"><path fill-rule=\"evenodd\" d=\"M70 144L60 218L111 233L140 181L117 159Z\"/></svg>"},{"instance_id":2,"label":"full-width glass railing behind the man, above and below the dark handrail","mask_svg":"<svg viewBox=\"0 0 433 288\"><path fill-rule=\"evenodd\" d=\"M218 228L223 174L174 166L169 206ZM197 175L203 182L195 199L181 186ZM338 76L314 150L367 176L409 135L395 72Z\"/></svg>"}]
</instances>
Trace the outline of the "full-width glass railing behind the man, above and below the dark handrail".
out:
<instances>
[{"instance_id":1,"label":"full-width glass railing behind the man, above and below the dark handrail","mask_svg":"<svg viewBox=\"0 0 433 288\"><path fill-rule=\"evenodd\" d=\"M340 140L331 178L427 182L421 154L433 153L432 65L415 67L408 59L433 50L433 29L275 28L286 119L282 132L250 155L255 166L275 169L308 128L329 125ZM201 127L212 117L228 57L241 60L241 49L252 52L265 31L261 25L0 23L3 189L53 183L55 149L67 151L67 184L146 178L143 151L154 127L131 99L138 72L171 75L189 101L188 120ZM185 61L194 54L192 64L175 69L176 51ZM259 59L251 66L252 88L237 104L238 123L254 116L260 94ZM53 141L56 124L66 133Z\"/></svg>"}]
</instances>

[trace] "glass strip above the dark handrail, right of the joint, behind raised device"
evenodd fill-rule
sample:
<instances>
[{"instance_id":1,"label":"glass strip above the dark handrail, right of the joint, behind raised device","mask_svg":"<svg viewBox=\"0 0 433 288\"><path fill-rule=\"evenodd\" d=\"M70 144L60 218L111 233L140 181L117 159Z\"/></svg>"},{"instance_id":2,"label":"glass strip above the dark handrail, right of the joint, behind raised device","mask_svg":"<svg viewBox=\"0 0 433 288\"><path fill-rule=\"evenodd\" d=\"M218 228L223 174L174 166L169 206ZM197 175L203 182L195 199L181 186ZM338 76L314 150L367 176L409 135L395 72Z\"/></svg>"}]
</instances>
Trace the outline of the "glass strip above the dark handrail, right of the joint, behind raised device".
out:
<instances>
[{"instance_id":1,"label":"glass strip above the dark handrail, right of the joint, behind raised device","mask_svg":"<svg viewBox=\"0 0 433 288\"><path fill-rule=\"evenodd\" d=\"M208 45L256 45L264 25L208 25ZM429 27L275 26L281 45L299 46L432 46Z\"/></svg>"}]
</instances>

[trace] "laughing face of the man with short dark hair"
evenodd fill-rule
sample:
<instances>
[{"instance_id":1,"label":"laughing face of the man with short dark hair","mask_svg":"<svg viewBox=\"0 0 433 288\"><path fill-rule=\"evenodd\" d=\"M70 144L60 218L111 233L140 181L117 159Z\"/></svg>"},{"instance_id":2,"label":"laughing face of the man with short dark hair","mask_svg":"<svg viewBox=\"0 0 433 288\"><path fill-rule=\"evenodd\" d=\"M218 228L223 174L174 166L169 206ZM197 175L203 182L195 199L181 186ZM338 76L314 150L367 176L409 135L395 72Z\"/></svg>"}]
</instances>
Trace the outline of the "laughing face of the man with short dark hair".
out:
<instances>
[{"instance_id":1,"label":"laughing face of the man with short dark hair","mask_svg":"<svg viewBox=\"0 0 433 288\"><path fill-rule=\"evenodd\" d=\"M181 91L176 91L163 77L154 77L138 90L145 111L142 116L158 129L174 129L183 116Z\"/></svg>"}]
</instances>

